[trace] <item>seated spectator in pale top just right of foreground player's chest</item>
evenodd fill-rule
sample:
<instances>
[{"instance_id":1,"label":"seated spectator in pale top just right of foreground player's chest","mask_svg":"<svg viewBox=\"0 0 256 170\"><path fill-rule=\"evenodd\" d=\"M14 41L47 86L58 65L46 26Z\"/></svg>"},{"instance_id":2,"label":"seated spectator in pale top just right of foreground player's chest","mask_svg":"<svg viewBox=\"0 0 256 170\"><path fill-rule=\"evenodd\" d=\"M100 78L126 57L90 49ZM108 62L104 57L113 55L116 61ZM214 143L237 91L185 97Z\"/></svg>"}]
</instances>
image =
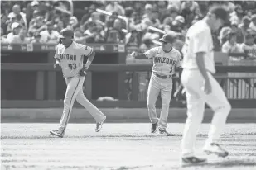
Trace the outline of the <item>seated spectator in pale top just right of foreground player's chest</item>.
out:
<instances>
[{"instance_id":1,"label":"seated spectator in pale top just right of foreground player's chest","mask_svg":"<svg viewBox=\"0 0 256 170\"><path fill-rule=\"evenodd\" d=\"M239 45L236 43L236 32L229 31L228 40L222 45L223 53L239 53Z\"/></svg>"}]
</instances>

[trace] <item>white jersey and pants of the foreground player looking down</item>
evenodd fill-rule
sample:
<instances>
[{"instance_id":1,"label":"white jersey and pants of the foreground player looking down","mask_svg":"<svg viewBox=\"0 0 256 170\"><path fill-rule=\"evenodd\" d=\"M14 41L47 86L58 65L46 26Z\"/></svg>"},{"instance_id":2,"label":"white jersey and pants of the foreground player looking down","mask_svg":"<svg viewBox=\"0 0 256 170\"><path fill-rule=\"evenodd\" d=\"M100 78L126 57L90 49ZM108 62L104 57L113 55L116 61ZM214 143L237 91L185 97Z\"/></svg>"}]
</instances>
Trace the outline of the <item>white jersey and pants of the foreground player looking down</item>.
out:
<instances>
[{"instance_id":1,"label":"white jersey and pants of the foreground player looking down","mask_svg":"<svg viewBox=\"0 0 256 170\"><path fill-rule=\"evenodd\" d=\"M204 52L205 68L208 71L212 92L208 95L203 91L204 78L196 64L196 53ZM194 156L196 131L203 119L205 102L215 111L206 144L216 142L220 138L231 106L225 97L220 84L212 76L215 73L213 41L210 27L205 21L197 21L186 33L183 53L183 72L181 83L186 90L187 119L181 141L183 157Z\"/></svg>"}]
</instances>

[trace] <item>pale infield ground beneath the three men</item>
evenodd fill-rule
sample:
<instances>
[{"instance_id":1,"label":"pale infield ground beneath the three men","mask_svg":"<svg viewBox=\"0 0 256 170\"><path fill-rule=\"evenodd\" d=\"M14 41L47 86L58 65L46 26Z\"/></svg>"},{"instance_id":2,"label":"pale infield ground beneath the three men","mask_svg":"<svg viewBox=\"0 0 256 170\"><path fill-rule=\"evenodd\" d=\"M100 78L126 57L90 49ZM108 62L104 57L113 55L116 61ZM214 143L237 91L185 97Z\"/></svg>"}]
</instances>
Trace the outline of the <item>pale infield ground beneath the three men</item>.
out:
<instances>
[{"instance_id":1,"label":"pale infield ground beneath the three men","mask_svg":"<svg viewBox=\"0 0 256 170\"><path fill-rule=\"evenodd\" d=\"M229 157L201 152L209 124L201 125L196 153L208 158L201 166L181 168L180 143L184 124L170 123L175 136L151 135L150 124L69 124L65 138L52 137L57 124L2 124L1 169L256 169L256 124L228 124L221 144Z\"/></svg>"}]
</instances>

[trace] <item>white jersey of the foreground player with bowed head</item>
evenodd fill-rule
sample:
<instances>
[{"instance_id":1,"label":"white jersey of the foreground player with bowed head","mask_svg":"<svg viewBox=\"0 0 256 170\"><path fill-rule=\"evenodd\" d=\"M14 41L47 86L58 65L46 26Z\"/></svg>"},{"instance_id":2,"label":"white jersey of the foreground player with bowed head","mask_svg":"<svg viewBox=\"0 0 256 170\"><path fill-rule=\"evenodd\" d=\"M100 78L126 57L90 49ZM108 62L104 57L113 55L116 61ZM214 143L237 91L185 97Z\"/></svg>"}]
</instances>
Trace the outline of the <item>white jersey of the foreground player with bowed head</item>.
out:
<instances>
[{"instance_id":1,"label":"white jersey of the foreground player with bowed head","mask_svg":"<svg viewBox=\"0 0 256 170\"><path fill-rule=\"evenodd\" d=\"M210 27L205 21L197 21L186 33L185 44L181 50L183 54L182 68L198 69L196 53L205 52L205 68L210 73L215 73L213 48Z\"/></svg>"}]
</instances>

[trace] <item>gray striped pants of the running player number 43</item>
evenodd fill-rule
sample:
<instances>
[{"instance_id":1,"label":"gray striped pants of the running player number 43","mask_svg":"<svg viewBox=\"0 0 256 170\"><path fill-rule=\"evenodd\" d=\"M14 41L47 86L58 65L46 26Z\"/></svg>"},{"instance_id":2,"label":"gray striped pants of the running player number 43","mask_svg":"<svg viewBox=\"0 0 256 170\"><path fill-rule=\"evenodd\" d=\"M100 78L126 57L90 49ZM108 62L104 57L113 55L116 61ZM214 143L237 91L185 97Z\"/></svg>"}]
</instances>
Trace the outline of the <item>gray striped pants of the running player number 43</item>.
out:
<instances>
[{"instance_id":1,"label":"gray striped pants of the running player number 43","mask_svg":"<svg viewBox=\"0 0 256 170\"><path fill-rule=\"evenodd\" d=\"M106 116L104 116L104 114L85 97L83 92L84 81L85 76L80 75L73 78L65 78L67 88L65 92L63 114L60 119L60 129L63 130L63 133L65 133L66 126L69 122L75 99L80 103L80 105L84 106L85 109L89 111L97 123L106 118Z\"/></svg>"}]
</instances>

